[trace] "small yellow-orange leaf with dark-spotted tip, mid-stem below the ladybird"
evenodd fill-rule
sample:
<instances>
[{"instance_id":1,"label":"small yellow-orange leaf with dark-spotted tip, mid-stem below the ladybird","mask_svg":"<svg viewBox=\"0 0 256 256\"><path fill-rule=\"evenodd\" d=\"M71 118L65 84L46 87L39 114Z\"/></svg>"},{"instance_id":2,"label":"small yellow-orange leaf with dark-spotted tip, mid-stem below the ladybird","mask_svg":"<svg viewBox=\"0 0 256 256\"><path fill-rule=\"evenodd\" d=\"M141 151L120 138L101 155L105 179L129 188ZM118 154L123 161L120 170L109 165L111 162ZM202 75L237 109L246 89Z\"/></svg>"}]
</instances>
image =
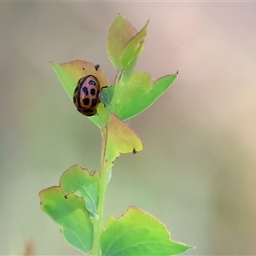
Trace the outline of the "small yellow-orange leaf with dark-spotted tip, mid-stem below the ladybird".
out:
<instances>
[{"instance_id":1,"label":"small yellow-orange leaf with dark-spotted tip, mid-stem below the ladybird","mask_svg":"<svg viewBox=\"0 0 256 256\"><path fill-rule=\"evenodd\" d=\"M137 153L143 150L143 143L131 128L113 113L107 125L106 158L113 162L120 153Z\"/></svg>"}]
</instances>

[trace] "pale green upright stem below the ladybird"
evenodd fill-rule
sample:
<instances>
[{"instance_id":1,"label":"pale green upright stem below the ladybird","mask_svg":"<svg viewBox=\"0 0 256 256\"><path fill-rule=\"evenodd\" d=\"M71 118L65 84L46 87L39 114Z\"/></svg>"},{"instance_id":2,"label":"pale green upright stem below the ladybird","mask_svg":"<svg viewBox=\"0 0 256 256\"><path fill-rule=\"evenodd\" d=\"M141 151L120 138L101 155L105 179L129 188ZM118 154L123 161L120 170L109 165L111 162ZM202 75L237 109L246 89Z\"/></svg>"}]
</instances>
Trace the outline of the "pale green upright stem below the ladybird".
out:
<instances>
[{"instance_id":1,"label":"pale green upright stem below the ladybird","mask_svg":"<svg viewBox=\"0 0 256 256\"><path fill-rule=\"evenodd\" d=\"M102 127L102 155L101 155L101 179L100 179L100 195L99 195L99 206L98 206L98 218L94 218L94 240L91 250L91 256L102 255L101 251L101 236L102 236L102 225L103 225L103 213L104 213L104 201L106 190L108 187L108 173L111 169L106 160L106 144L107 144L107 132L106 127Z\"/></svg>"}]
</instances>

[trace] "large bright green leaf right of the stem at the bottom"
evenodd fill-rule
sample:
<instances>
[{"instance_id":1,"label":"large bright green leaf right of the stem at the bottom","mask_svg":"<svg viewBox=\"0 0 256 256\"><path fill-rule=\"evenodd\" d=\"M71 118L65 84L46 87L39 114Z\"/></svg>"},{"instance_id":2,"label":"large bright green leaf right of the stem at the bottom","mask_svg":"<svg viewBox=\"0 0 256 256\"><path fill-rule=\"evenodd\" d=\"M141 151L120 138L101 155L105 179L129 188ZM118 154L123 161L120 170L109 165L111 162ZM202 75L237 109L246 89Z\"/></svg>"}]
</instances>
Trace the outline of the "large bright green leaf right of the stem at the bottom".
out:
<instances>
[{"instance_id":1,"label":"large bright green leaf right of the stem at the bottom","mask_svg":"<svg viewBox=\"0 0 256 256\"><path fill-rule=\"evenodd\" d=\"M108 218L102 233L103 256L169 256L191 248L172 241L165 224L137 207L129 207L121 218Z\"/></svg>"}]
</instances>

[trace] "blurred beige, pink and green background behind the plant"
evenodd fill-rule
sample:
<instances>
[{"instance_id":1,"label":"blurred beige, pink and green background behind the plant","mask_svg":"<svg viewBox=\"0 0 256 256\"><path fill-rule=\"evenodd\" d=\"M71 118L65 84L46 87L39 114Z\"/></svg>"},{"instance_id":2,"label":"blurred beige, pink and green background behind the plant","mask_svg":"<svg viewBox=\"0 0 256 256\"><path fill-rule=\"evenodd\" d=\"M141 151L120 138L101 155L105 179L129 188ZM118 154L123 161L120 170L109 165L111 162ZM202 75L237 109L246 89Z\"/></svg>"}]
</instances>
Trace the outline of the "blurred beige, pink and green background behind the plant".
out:
<instances>
[{"instance_id":1,"label":"blurred beige, pink and green background behind the plant","mask_svg":"<svg viewBox=\"0 0 256 256\"><path fill-rule=\"evenodd\" d=\"M81 255L39 209L38 192L73 164L99 169L101 136L49 61L108 61L120 13L140 30L137 62L164 96L129 121L144 149L115 162L106 218L136 205L187 255L256 254L256 3L0 3L0 254L32 240L38 255Z\"/></svg>"}]
</instances>

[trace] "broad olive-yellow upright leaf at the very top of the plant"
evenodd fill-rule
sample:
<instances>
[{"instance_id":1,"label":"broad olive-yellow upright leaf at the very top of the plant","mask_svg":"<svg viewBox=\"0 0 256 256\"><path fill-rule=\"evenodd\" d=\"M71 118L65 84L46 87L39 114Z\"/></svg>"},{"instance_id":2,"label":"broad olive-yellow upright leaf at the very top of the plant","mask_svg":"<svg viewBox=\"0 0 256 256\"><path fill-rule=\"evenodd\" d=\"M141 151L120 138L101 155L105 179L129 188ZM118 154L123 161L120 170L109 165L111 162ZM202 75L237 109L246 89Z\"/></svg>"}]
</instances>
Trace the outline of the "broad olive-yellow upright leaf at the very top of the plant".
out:
<instances>
[{"instance_id":1,"label":"broad olive-yellow upright leaf at the very top of the plant","mask_svg":"<svg viewBox=\"0 0 256 256\"><path fill-rule=\"evenodd\" d=\"M122 15L118 15L117 18L113 20L107 37L108 57L113 67L121 68L119 56L122 49L136 34L137 30Z\"/></svg>"}]
</instances>

